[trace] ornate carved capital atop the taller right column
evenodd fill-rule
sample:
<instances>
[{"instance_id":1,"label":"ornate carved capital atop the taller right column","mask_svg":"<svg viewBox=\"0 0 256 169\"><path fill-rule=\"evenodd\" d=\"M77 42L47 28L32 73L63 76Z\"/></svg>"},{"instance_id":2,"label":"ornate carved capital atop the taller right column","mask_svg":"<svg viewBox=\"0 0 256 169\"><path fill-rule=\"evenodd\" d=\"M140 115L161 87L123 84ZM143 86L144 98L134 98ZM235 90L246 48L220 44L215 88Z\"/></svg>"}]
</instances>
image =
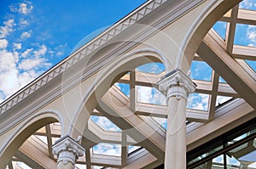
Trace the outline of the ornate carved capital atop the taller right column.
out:
<instances>
[{"instance_id":1,"label":"ornate carved capital atop the taller right column","mask_svg":"<svg viewBox=\"0 0 256 169\"><path fill-rule=\"evenodd\" d=\"M189 76L186 76L182 70L176 69L161 77L158 82L159 90L165 94L167 100L171 97L176 97L177 100L187 99L189 93L195 92L196 84L191 81Z\"/></svg>"}]
</instances>

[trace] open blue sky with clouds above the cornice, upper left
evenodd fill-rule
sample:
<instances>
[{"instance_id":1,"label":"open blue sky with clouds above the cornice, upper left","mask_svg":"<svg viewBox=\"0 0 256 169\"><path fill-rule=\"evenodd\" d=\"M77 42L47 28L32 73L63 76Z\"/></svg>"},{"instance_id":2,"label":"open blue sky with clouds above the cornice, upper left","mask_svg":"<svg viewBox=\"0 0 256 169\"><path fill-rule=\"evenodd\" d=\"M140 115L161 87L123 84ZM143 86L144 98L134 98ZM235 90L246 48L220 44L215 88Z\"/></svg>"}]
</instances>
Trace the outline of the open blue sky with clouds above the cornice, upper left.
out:
<instances>
[{"instance_id":1,"label":"open blue sky with clouds above the cornice, upper left","mask_svg":"<svg viewBox=\"0 0 256 169\"><path fill-rule=\"evenodd\" d=\"M1 0L0 102L144 2Z\"/></svg>"}]
</instances>

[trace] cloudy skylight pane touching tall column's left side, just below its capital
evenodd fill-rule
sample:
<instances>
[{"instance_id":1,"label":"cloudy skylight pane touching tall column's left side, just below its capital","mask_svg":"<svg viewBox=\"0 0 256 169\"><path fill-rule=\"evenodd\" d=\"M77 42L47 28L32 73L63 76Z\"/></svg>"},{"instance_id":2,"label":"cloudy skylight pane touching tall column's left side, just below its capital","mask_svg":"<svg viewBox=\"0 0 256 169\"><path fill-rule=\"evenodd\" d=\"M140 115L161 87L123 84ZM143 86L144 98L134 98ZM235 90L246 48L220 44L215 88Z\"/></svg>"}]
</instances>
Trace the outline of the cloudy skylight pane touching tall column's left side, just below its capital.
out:
<instances>
[{"instance_id":1,"label":"cloudy skylight pane touching tall column's left side, just below its capital","mask_svg":"<svg viewBox=\"0 0 256 169\"><path fill-rule=\"evenodd\" d=\"M166 96L154 87L136 86L137 102L166 105Z\"/></svg>"}]
</instances>

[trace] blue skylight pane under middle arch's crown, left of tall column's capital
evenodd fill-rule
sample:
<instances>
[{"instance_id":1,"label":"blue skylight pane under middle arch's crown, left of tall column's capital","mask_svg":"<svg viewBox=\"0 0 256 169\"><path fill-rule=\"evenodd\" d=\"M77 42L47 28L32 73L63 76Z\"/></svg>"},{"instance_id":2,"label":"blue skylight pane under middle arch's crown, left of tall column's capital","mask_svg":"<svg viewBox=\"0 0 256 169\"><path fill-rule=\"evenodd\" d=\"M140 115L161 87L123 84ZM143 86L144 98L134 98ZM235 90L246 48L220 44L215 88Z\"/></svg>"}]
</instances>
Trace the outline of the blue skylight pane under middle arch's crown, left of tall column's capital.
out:
<instances>
[{"instance_id":1,"label":"blue skylight pane under middle arch's crown, left of tall column's capital","mask_svg":"<svg viewBox=\"0 0 256 169\"><path fill-rule=\"evenodd\" d=\"M165 71L165 66L162 63L149 63L145 65L141 65L137 67L137 71L141 71L144 73L152 73L152 74L160 74Z\"/></svg>"}]
</instances>

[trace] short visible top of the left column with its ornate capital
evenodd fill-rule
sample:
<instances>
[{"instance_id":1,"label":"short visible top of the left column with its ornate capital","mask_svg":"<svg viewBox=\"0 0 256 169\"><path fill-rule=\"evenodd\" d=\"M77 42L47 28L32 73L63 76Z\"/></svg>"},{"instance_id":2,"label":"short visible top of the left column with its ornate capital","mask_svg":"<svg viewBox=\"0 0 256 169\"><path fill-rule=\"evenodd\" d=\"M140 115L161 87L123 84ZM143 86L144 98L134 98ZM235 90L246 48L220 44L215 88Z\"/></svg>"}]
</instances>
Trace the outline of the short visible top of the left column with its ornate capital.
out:
<instances>
[{"instance_id":1,"label":"short visible top of the left column with its ornate capital","mask_svg":"<svg viewBox=\"0 0 256 169\"><path fill-rule=\"evenodd\" d=\"M73 138L63 137L52 146L53 154L58 156L58 169L73 169L79 156L84 155L85 149Z\"/></svg>"}]
</instances>

